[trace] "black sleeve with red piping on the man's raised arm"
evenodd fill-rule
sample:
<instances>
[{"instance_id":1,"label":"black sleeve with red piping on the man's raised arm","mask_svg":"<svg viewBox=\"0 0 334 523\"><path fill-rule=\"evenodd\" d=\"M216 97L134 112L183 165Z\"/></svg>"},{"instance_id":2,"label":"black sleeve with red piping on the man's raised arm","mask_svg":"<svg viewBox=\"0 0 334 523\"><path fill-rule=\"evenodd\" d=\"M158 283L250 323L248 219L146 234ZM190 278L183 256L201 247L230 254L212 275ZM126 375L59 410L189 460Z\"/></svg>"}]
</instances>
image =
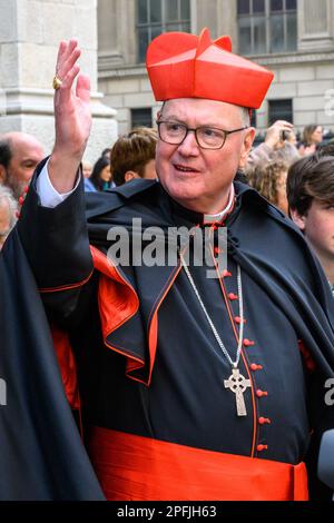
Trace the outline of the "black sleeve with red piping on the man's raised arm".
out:
<instances>
[{"instance_id":1,"label":"black sleeve with red piping on the man's raised arm","mask_svg":"<svg viewBox=\"0 0 334 523\"><path fill-rule=\"evenodd\" d=\"M18 231L45 304L69 317L92 274L84 184L57 207L41 206L36 180L45 161L31 180Z\"/></svg>"}]
</instances>

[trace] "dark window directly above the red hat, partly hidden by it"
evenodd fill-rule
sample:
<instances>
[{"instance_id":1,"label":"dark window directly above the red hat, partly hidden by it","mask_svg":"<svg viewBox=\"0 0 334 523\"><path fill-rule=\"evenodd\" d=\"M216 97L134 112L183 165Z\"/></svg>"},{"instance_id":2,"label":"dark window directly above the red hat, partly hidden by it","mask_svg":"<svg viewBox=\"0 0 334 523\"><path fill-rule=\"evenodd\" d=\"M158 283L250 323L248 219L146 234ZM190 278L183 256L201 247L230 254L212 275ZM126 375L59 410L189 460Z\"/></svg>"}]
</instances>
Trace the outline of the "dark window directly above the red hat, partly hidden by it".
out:
<instances>
[{"instance_id":1,"label":"dark window directly above the red hat, partly hidden by it","mask_svg":"<svg viewBox=\"0 0 334 523\"><path fill-rule=\"evenodd\" d=\"M190 0L137 0L138 62L149 42L161 32L190 31Z\"/></svg>"}]
</instances>

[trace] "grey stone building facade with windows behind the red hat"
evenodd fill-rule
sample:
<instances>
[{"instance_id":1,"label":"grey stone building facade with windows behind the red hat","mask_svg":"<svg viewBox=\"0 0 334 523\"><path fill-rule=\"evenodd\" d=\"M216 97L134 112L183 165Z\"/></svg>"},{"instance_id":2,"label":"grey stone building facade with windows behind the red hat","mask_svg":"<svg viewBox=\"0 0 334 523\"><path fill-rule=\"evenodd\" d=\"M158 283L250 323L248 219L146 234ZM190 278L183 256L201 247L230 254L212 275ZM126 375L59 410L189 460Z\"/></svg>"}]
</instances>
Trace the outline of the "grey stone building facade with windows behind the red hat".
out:
<instances>
[{"instance_id":1,"label":"grey stone building facade with windows behind the red hat","mask_svg":"<svg viewBox=\"0 0 334 523\"><path fill-rule=\"evenodd\" d=\"M296 129L317 124L334 130L333 0L99 0L99 90L117 110L120 132L156 117L144 65L147 40L166 29L198 34L205 26L214 38L229 34L235 52L275 73L255 115L259 131L277 118Z\"/></svg>"}]
</instances>

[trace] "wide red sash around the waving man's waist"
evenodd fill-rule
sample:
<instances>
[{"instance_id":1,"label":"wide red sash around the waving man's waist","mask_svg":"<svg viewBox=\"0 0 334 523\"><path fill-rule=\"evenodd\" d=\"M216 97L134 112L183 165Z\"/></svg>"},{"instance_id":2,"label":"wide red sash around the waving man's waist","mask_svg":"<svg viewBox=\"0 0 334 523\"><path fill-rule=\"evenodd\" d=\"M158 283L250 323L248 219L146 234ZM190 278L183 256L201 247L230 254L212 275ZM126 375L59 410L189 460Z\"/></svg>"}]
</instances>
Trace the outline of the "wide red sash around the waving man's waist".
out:
<instances>
[{"instance_id":1,"label":"wide red sash around the waving man's waist","mask_svg":"<svg viewBox=\"0 0 334 523\"><path fill-rule=\"evenodd\" d=\"M223 454L94 427L90 456L109 501L307 501L304 463Z\"/></svg>"}]
</instances>

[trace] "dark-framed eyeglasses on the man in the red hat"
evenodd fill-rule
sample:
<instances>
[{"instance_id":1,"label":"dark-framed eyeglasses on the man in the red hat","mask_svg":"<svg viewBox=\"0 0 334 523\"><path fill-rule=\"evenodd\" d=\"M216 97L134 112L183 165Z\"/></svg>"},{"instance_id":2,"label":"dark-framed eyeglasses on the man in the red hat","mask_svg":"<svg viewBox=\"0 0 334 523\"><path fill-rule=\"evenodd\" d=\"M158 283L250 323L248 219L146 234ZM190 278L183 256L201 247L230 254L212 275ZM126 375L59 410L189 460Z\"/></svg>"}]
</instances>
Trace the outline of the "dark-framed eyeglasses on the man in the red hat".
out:
<instances>
[{"instance_id":1,"label":"dark-framed eyeglasses on the man in the red hat","mask_svg":"<svg viewBox=\"0 0 334 523\"><path fill-rule=\"evenodd\" d=\"M248 126L230 131L207 126L191 129L184 124L169 120L158 120L157 126L160 139L174 146L180 145L189 131L195 132L196 141L202 149L222 149L228 135L248 129Z\"/></svg>"}]
</instances>

